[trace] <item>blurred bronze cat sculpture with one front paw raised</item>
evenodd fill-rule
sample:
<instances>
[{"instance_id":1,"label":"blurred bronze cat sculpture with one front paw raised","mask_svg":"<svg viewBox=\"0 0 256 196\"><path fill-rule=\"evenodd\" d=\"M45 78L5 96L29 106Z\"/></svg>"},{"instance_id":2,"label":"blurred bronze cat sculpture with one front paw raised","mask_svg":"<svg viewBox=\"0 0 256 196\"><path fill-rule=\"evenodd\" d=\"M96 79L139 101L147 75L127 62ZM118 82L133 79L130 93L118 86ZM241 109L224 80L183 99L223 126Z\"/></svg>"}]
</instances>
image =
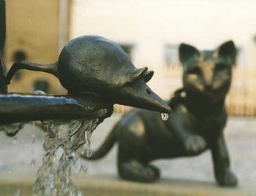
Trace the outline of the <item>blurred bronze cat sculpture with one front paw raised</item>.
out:
<instances>
[{"instance_id":1,"label":"blurred bronze cat sculpture with one front paw raised","mask_svg":"<svg viewBox=\"0 0 256 196\"><path fill-rule=\"evenodd\" d=\"M118 173L122 179L151 182L159 179L152 160L189 157L211 150L217 183L236 187L223 130L227 121L225 96L230 88L236 47L225 42L214 52L199 52L181 44L183 84L171 98L173 109L167 121L159 113L136 109L113 128L102 146L85 157L97 160L118 143Z\"/></svg>"}]
</instances>

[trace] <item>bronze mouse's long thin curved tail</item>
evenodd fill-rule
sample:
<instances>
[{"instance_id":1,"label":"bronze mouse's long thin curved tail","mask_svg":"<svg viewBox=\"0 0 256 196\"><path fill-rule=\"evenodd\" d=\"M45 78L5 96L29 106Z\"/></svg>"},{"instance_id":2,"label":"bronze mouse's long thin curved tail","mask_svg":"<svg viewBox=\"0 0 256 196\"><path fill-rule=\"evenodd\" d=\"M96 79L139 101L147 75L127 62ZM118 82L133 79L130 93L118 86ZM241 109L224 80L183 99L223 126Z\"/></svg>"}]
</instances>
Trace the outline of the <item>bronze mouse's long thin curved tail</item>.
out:
<instances>
[{"instance_id":1,"label":"bronze mouse's long thin curved tail","mask_svg":"<svg viewBox=\"0 0 256 196\"><path fill-rule=\"evenodd\" d=\"M10 81L13 75L20 69L28 69L31 71L43 71L49 74L53 74L58 77L58 62L50 63L50 64L39 64L39 63L31 63L25 60L14 63L10 70L7 73L6 82L10 84Z\"/></svg>"}]
</instances>

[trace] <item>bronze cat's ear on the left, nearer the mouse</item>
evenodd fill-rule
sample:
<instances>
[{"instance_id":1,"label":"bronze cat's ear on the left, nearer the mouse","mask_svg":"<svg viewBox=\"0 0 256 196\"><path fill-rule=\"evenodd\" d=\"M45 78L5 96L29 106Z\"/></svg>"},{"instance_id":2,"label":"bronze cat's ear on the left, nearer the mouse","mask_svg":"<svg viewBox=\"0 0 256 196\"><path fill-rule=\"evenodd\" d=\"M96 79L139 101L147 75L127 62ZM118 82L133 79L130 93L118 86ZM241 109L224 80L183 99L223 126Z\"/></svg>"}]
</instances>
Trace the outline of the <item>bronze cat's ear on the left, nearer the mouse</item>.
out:
<instances>
[{"instance_id":1,"label":"bronze cat's ear on the left, nearer the mouse","mask_svg":"<svg viewBox=\"0 0 256 196\"><path fill-rule=\"evenodd\" d=\"M192 58L198 58L200 56L200 52L195 47L183 43L180 44L178 52L179 59L183 64Z\"/></svg>"}]
</instances>

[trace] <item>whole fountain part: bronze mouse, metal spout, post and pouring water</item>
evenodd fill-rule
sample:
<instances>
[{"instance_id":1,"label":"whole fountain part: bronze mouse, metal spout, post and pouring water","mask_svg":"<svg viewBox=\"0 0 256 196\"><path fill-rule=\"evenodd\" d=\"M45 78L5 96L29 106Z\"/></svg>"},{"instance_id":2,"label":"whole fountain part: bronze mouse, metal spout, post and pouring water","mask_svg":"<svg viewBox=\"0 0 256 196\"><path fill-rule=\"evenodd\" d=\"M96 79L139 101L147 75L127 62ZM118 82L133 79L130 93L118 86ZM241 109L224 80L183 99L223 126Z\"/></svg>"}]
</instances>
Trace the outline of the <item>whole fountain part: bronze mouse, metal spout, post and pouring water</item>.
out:
<instances>
[{"instance_id":1,"label":"whole fountain part: bronze mouse, metal spout, post and pouring water","mask_svg":"<svg viewBox=\"0 0 256 196\"><path fill-rule=\"evenodd\" d=\"M0 14L0 130L7 136L15 136L26 122L41 120L47 128L43 144L45 154L34 184L34 195L82 195L70 179L77 159L76 150L86 145L86 154L90 156L91 133L111 116L113 104L162 113L170 113L170 107L146 85L153 71L135 68L118 44L99 36L72 39L56 63L42 65L20 61L6 74L1 55L5 42L4 0L0 0ZM20 68L53 74L69 93L8 94L7 84ZM54 170L53 157L59 148L63 149L63 154Z\"/></svg>"}]
</instances>

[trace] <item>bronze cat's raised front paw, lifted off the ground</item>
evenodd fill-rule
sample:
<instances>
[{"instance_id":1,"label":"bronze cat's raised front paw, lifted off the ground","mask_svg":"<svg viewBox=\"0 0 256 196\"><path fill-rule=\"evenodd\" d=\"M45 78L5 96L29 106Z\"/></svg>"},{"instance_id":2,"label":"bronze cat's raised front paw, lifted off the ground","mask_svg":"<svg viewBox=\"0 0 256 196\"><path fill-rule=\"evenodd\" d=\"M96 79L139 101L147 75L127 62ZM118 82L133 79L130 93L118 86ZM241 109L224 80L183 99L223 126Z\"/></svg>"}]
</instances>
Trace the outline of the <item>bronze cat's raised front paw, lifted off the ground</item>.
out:
<instances>
[{"instance_id":1,"label":"bronze cat's raised front paw, lifted off the ground","mask_svg":"<svg viewBox=\"0 0 256 196\"><path fill-rule=\"evenodd\" d=\"M206 141L197 135L188 136L184 142L185 150L188 154L200 154L206 149Z\"/></svg>"}]
</instances>

